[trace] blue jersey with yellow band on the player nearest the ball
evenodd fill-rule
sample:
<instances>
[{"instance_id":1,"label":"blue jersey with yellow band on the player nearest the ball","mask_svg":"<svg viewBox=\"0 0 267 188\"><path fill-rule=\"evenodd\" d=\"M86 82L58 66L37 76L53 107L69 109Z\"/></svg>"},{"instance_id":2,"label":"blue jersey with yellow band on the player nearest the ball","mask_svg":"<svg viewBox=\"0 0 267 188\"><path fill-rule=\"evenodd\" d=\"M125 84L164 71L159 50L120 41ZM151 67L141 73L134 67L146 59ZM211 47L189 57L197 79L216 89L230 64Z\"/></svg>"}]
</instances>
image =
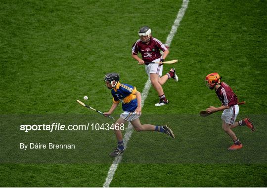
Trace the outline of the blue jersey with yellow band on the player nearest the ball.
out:
<instances>
[{"instance_id":1,"label":"blue jersey with yellow band on the player nearest the ball","mask_svg":"<svg viewBox=\"0 0 267 188\"><path fill-rule=\"evenodd\" d=\"M134 93L136 88L132 85L118 82L115 88L112 88L111 94L114 103L122 103L123 111L134 112L137 108L137 99Z\"/></svg>"}]
</instances>

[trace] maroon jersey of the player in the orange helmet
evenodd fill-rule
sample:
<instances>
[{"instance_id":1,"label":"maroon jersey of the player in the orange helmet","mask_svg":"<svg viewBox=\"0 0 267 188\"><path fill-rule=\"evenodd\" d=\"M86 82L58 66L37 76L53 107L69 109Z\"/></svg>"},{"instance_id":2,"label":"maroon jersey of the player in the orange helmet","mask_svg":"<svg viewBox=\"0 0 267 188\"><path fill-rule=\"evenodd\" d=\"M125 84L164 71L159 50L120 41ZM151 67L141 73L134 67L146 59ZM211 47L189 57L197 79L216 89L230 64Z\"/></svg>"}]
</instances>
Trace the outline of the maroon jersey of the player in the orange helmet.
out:
<instances>
[{"instance_id":1,"label":"maroon jersey of the player in the orange helmet","mask_svg":"<svg viewBox=\"0 0 267 188\"><path fill-rule=\"evenodd\" d=\"M216 90L218 98L222 101L222 106L234 106L237 104L237 96L234 94L233 90L224 82L220 83L221 86Z\"/></svg>"}]
</instances>

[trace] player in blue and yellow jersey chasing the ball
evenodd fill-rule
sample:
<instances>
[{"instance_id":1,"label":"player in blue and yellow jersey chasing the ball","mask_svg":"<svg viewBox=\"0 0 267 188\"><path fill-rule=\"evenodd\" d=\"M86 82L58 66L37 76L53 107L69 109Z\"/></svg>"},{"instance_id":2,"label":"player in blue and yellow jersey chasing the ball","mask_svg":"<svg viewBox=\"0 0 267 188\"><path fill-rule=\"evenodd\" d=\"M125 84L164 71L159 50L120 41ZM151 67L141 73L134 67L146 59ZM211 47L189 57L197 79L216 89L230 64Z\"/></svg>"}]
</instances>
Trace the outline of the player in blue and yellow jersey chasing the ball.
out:
<instances>
[{"instance_id":1,"label":"player in blue and yellow jersey chasing the ball","mask_svg":"<svg viewBox=\"0 0 267 188\"><path fill-rule=\"evenodd\" d=\"M109 73L105 75L105 84L107 88L111 89L113 96L113 104L110 110L104 115L110 115L118 107L119 102L122 103L124 113L115 123L115 135L118 141L118 147L115 151L111 152L111 156L117 156L124 152L123 135L119 128L121 124L130 121L136 131L158 131L170 135L175 138L173 131L167 126L155 126L151 124L141 124L139 116L141 115L141 93L136 88L129 84L120 83L120 77L117 73Z\"/></svg>"}]
</instances>

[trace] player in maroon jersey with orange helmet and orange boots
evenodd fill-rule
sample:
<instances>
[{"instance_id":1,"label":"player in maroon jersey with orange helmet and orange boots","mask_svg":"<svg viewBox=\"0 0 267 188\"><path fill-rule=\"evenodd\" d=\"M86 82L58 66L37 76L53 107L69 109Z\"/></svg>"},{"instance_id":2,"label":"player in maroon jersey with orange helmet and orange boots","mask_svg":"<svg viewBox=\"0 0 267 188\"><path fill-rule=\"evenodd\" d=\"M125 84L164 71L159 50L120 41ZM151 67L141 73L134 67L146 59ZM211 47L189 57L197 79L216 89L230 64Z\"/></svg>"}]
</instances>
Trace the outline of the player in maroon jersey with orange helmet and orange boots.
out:
<instances>
[{"instance_id":1,"label":"player in maroon jersey with orange helmet and orange boots","mask_svg":"<svg viewBox=\"0 0 267 188\"><path fill-rule=\"evenodd\" d=\"M237 126L246 125L252 131L254 131L254 126L250 121L250 118L245 118L240 121L235 119L239 113L239 107L237 105L238 99L234 94L232 89L224 82L221 82L221 77L218 73L211 73L206 76L206 85L210 89L215 89L216 94L220 101L222 102L221 107L209 107L206 109L208 113L223 111L222 120L223 120L223 130L231 137L234 144L228 148L228 150L239 150L243 146L239 139L235 136L234 132L231 130Z\"/></svg>"}]
</instances>

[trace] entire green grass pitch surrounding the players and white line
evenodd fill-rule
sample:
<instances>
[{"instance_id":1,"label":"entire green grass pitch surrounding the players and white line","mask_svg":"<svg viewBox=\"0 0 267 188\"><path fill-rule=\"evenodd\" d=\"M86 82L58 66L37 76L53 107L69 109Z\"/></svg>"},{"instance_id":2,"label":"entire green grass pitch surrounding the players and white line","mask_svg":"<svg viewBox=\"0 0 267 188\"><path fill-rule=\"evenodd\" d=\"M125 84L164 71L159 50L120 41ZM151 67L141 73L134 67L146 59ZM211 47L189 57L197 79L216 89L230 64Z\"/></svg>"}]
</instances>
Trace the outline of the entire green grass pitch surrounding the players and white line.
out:
<instances>
[{"instance_id":1,"label":"entire green grass pitch surrounding the players and white line","mask_svg":"<svg viewBox=\"0 0 267 188\"><path fill-rule=\"evenodd\" d=\"M20 124L110 122L75 100L108 111L108 72L142 91L144 67L131 58L142 25L165 42L181 0L0 2L0 187L102 187L116 146L112 131L19 131ZM155 4L156 7L155 8ZM265 0L190 1L167 60L179 82L164 91L170 104L155 108L151 88L140 119L172 127L177 138L134 132L111 187L267 186L267 3ZM171 65L164 66L164 73ZM250 116L256 132L234 129L244 145L228 152L220 114L198 112L220 106L205 75L218 72L240 101L238 119ZM121 113L118 108L115 117ZM34 116L37 114L38 116ZM89 115L88 115L89 114ZM81 116L82 115L82 116ZM87 116L88 115L88 116ZM75 142L73 151L28 151L20 142ZM47 160L50 157L50 160Z\"/></svg>"}]
</instances>

